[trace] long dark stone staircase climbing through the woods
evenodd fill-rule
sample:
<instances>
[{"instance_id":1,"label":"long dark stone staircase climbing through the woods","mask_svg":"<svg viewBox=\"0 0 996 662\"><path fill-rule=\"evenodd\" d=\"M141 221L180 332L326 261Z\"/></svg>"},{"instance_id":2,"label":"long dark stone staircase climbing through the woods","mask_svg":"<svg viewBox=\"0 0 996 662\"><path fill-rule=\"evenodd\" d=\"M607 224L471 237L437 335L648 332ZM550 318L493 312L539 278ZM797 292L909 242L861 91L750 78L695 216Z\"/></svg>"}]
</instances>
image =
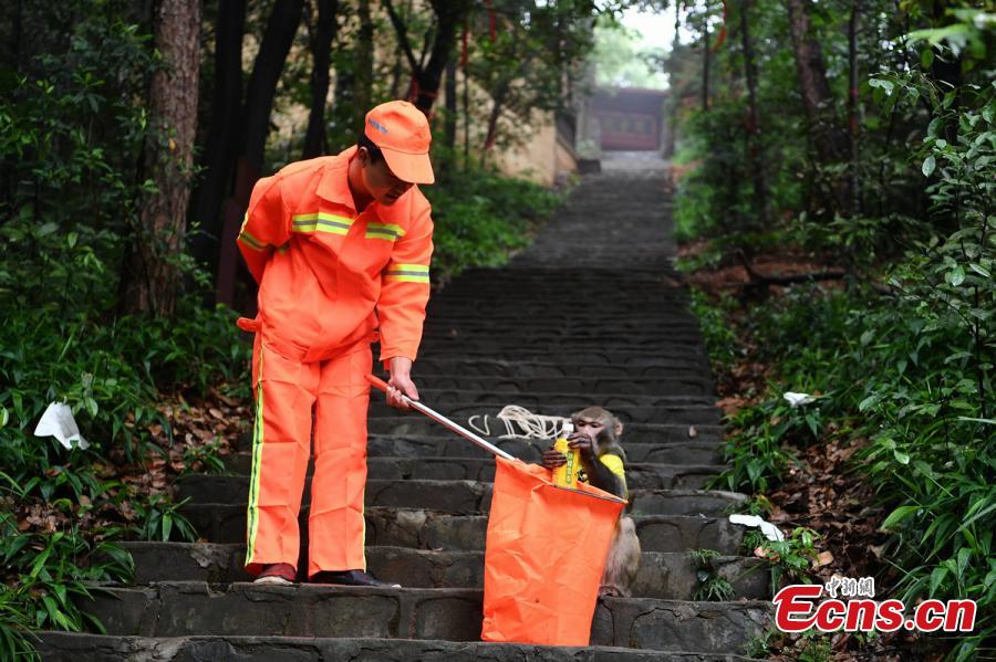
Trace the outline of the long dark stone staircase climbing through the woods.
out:
<instances>
[{"instance_id":1,"label":"long dark stone staircase climbing through the woods","mask_svg":"<svg viewBox=\"0 0 996 662\"><path fill-rule=\"evenodd\" d=\"M505 404L552 414L600 404L625 422L643 559L633 598L600 601L591 647L477 641L494 461L375 392L367 559L405 588L249 584L242 449L231 475L179 485L186 515L210 542L128 544L135 585L107 587L87 606L107 634L44 633L43 659L743 659L770 618L768 572L739 556L743 528L727 521L745 496L703 488L722 470L722 428L671 266L668 204L661 171L587 179L509 266L469 272L433 298L414 371L423 400L464 423ZM543 445L497 444L527 461ZM740 599L693 601L701 577L688 551L697 548L720 553L716 572Z\"/></svg>"}]
</instances>

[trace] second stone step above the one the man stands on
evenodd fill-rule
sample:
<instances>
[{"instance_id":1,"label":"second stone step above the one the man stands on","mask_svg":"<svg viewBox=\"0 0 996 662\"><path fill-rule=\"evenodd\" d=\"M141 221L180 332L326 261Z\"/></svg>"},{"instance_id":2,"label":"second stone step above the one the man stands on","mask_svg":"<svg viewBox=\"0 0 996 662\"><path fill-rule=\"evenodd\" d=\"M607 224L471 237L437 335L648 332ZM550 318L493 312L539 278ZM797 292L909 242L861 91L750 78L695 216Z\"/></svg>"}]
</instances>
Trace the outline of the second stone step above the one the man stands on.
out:
<instances>
[{"instance_id":1,"label":"second stone step above the one the man stands on","mask_svg":"<svg viewBox=\"0 0 996 662\"><path fill-rule=\"evenodd\" d=\"M246 540L245 505L187 504L183 514L204 538L212 543ZM453 515L405 507L369 507L364 515L367 546L455 550L484 549L485 546L485 515ZM302 537L307 535L307 519L308 506L302 506ZM744 539L744 528L730 524L725 515L634 513L633 521L644 551L715 549L726 556L737 556Z\"/></svg>"}]
</instances>

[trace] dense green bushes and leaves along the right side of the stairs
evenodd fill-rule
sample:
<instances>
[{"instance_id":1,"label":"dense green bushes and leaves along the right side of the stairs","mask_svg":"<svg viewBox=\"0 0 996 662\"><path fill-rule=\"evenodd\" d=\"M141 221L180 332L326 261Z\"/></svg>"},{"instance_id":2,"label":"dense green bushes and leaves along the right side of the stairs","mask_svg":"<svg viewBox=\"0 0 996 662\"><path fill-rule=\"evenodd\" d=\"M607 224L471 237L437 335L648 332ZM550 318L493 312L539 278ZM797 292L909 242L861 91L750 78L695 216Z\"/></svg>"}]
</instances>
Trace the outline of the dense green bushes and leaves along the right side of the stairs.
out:
<instances>
[{"instance_id":1,"label":"dense green bushes and leaves along the right side of the stairs","mask_svg":"<svg viewBox=\"0 0 996 662\"><path fill-rule=\"evenodd\" d=\"M747 311L741 327L751 360L772 365L776 375L766 399L733 419L732 469L720 484L764 501L793 449L820 443L830 423L838 438L868 440L853 458L888 508L881 526L893 532L886 553L896 597L907 605L926 597L976 600L977 629L952 652L968 659L996 633L996 87L985 56L993 21L965 9L932 24L915 3L904 8L923 29L874 55L873 75L860 84L857 161L810 162L811 155L789 145L799 143L789 118L764 120L786 129L762 127L765 149L789 147L779 170L802 174L796 186L803 193L772 185L779 213L768 237L833 255L855 277L840 290L792 287ZM769 20L761 18L758 30L774 25ZM839 39L826 32L834 21L840 24L832 12L813 13L821 41ZM878 28L895 35L900 25L883 14ZM831 63L839 57L832 49L823 53ZM762 49L761 56L774 54ZM859 54L859 63L868 56ZM957 87L938 76L942 63L957 65ZM766 77L762 107L776 98L775 88L795 85ZM758 250L764 237L747 219L744 177L723 180L724 171L744 167L735 148L739 129L724 126L736 118L729 103L717 93L708 117L699 113L687 123L687 144L703 165L683 182L676 212L687 239L718 237L712 263L716 252ZM851 168L859 209L830 213L821 206L833 197L827 185ZM729 306L699 302L694 309L708 329L722 325ZM710 350L715 345L722 343L710 343ZM719 357L725 364L730 350ZM788 390L821 397L793 409L781 399ZM810 554L801 536L785 544L757 534L748 539L784 572L805 576ZM813 645L812 659L821 659Z\"/></svg>"}]
</instances>

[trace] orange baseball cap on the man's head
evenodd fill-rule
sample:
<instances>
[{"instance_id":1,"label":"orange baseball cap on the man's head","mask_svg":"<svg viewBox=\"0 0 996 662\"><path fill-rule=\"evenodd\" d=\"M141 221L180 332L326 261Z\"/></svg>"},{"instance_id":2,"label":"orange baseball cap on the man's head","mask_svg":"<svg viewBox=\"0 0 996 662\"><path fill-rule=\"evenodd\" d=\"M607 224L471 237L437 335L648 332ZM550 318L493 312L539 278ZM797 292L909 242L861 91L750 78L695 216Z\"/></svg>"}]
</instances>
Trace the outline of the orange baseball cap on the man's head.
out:
<instances>
[{"instance_id":1,"label":"orange baseball cap on the man's head","mask_svg":"<svg viewBox=\"0 0 996 662\"><path fill-rule=\"evenodd\" d=\"M387 102L366 114L363 132L384 153L395 177L412 183L433 183L428 148L433 141L428 120L408 102Z\"/></svg>"}]
</instances>

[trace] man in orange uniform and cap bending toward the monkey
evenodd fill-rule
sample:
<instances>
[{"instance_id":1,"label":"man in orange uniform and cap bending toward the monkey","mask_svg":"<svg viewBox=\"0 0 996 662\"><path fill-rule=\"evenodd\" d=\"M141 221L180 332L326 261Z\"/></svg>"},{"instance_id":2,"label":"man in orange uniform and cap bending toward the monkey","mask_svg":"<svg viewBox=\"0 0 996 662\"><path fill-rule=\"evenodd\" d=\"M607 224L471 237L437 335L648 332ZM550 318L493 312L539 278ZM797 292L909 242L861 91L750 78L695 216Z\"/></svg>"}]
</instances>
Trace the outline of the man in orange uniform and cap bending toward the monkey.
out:
<instances>
[{"instance_id":1,"label":"man in orange uniform and cap bending toward the monkey","mask_svg":"<svg viewBox=\"0 0 996 662\"><path fill-rule=\"evenodd\" d=\"M434 181L425 115L388 102L357 145L291 164L256 185L238 244L259 283L256 421L246 569L257 581L298 574L298 514L314 440L308 517L311 581L384 586L363 553L366 416L373 358L387 401L418 391L411 368L429 296L433 221L415 183ZM395 585L396 586L396 585Z\"/></svg>"}]
</instances>

